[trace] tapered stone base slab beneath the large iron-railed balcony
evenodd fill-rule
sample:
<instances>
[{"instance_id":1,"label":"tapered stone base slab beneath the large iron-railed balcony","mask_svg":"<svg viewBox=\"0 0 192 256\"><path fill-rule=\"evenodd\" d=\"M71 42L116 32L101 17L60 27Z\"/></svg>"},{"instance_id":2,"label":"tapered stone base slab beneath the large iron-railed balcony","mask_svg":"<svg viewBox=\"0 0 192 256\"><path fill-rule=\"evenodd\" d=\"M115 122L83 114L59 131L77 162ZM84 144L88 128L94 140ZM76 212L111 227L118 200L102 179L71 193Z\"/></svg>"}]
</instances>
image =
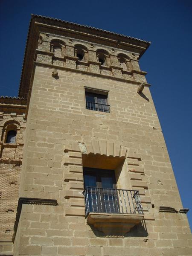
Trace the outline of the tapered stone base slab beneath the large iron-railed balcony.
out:
<instances>
[{"instance_id":1,"label":"tapered stone base slab beneath the large iron-railed balcony","mask_svg":"<svg viewBox=\"0 0 192 256\"><path fill-rule=\"evenodd\" d=\"M144 215L141 214L90 212L87 215L87 223L105 233L106 236L123 236L143 220Z\"/></svg>"}]
</instances>

